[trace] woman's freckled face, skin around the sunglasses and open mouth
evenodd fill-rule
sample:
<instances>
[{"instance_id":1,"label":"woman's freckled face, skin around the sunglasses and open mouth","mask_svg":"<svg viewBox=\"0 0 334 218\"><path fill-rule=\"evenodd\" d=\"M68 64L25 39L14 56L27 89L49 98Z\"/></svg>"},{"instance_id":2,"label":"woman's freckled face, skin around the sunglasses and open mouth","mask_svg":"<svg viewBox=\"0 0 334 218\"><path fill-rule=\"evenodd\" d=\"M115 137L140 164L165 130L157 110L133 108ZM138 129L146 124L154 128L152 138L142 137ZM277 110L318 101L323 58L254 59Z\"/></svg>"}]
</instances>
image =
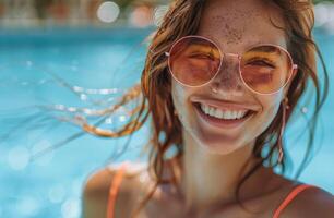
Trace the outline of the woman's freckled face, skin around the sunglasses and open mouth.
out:
<instances>
[{"instance_id":1,"label":"woman's freckled face, skin around the sunglasses and open mouth","mask_svg":"<svg viewBox=\"0 0 334 218\"><path fill-rule=\"evenodd\" d=\"M196 35L214 40L225 53L239 53L257 44L274 44L286 48L285 33L273 25L284 26L278 9L261 0L207 1ZM224 48L224 49L223 49ZM213 89L215 92L213 92ZM270 125L276 116L288 85L273 95L260 95L248 89L240 78L238 60L228 56L220 71L208 84L186 87L172 78L171 95L183 134L210 153L228 154L254 140ZM203 119L194 101L202 105L254 111L235 128L217 126Z\"/></svg>"}]
</instances>

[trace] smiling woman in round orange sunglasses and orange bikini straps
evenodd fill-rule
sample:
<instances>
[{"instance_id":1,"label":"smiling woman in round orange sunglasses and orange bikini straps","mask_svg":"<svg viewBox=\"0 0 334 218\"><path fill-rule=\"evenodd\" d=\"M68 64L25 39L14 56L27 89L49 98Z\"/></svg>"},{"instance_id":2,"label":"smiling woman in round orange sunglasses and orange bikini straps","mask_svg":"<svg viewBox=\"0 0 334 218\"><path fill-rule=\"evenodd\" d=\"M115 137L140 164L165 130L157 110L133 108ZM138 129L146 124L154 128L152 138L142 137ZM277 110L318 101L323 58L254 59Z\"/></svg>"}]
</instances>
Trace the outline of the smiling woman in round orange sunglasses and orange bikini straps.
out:
<instances>
[{"instance_id":1,"label":"smiling woman in round orange sunglasses and orange bikini straps","mask_svg":"<svg viewBox=\"0 0 334 218\"><path fill-rule=\"evenodd\" d=\"M141 89L124 98L143 95L138 117L118 133L84 125L116 137L152 116L147 168L94 173L83 216L334 217L330 193L273 170L285 168L282 135L308 80L315 111L324 100L312 26L310 1L174 1L153 36ZM177 154L166 158L171 147Z\"/></svg>"}]
</instances>

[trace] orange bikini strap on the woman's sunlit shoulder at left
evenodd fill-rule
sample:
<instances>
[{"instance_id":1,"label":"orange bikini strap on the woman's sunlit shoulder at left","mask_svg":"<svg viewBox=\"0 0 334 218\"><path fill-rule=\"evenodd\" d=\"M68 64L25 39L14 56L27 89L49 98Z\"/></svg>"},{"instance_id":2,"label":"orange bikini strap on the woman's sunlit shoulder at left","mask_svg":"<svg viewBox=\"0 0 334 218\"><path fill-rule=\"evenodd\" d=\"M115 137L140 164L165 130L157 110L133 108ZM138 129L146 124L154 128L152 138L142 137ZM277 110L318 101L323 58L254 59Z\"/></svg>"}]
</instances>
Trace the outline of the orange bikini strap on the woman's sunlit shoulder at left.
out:
<instances>
[{"instance_id":1,"label":"orange bikini strap on the woman's sunlit shoulder at left","mask_svg":"<svg viewBox=\"0 0 334 218\"><path fill-rule=\"evenodd\" d=\"M115 177L112 178L108 195L107 218L114 218L116 196L120 187L127 165L128 162L122 162L120 169L116 172Z\"/></svg>"}]
</instances>

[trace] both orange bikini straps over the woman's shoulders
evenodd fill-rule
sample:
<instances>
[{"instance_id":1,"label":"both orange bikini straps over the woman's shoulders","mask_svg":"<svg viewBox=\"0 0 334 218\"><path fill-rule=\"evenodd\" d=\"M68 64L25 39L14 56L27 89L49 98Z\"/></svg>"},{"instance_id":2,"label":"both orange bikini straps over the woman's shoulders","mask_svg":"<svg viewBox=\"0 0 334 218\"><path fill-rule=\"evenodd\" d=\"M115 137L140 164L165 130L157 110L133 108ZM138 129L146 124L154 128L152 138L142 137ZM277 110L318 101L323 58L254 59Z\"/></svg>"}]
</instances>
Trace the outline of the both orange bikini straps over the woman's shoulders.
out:
<instances>
[{"instance_id":1,"label":"both orange bikini straps over the woman's shoulders","mask_svg":"<svg viewBox=\"0 0 334 218\"><path fill-rule=\"evenodd\" d=\"M116 196L119 190L119 186L122 181L123 172L126 167L128 166L128 162L124 162L120 166L120 169L116 172L111 185L109 189L109 196L108 196L108 205L107 205L107 217L106 218L115 218L114 217L114 210L115 210L115 202ZM314 185L310 184L299 184L297 185L281 203L281 205L277 207L277 209L273 214L273 218L279 218L279 214L283 211L285 207L302 191L309 187L317 187Z\"/></svg>"}]
</instances>

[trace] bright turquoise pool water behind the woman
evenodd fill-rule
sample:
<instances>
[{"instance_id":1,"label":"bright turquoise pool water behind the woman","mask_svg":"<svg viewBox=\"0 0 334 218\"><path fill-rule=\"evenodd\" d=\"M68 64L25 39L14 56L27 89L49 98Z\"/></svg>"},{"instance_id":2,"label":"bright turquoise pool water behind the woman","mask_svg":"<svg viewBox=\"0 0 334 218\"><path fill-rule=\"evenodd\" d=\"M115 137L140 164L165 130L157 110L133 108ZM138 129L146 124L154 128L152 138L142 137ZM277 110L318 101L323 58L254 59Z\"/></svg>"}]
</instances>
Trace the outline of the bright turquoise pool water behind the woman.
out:
<instances>
[{"instance_id":1,"label":"bright turquoise pool water behind the woman","mask_svg":"<svg viewBox=\"0 0 334 218\"><path fill-rule=\"evenodd\" d=\"M51 116L36 105L104 108L140 80L146 53L141 45L150 29L29 29L0 32L0 217L80 217L81 190L86 177L105 165L112 150L120 152L127 138L91 135L72 141L28 162L32 155L61 143L80 129ZM320 49L334 82L334 37L317 34ZM69 85L69 86L68 86ZM76 92L69 87L76 86ZM85 88L84 92L81 92ZM94 94L108 88L106 94ZM112 89L111 88L116 88ZM334 193L333 130L334 89L321 113L317 130L318 155L300 180ZM117 126L127 109L104 126ZM26 120L31 118L31 120ZM305 152L306 126L296 119L285 135L289 154L298 167ZM148 129L138 132L131 147L117 161L133 159ZM298 133L298 134L296 134Z\"/></svg>"}]
</instances>

